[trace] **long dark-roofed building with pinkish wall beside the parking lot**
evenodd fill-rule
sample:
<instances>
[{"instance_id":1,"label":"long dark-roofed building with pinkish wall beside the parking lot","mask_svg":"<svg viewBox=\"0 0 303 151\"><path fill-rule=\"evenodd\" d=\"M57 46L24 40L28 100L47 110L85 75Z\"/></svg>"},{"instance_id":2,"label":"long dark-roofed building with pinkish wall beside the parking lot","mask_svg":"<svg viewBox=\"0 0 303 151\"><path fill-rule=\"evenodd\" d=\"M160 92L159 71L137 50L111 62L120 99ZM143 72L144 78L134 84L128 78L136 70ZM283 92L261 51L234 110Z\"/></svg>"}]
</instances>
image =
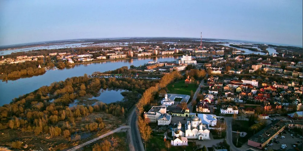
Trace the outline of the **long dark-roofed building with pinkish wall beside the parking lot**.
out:
<instances>
[{"instance_id":1,"label":"long dark-roofed building with pinkish wall beside the parking lot","mask_svg":"<svg viewBox=\"0 0 303 151\"><path fill-rule=\"evenodd\" d=\"M247 145L263 149L268 142L277 138L277 135L285 129L286 125L282 121L273 121L270 125L249 138Z\"/></svg>"}]
</instances>

